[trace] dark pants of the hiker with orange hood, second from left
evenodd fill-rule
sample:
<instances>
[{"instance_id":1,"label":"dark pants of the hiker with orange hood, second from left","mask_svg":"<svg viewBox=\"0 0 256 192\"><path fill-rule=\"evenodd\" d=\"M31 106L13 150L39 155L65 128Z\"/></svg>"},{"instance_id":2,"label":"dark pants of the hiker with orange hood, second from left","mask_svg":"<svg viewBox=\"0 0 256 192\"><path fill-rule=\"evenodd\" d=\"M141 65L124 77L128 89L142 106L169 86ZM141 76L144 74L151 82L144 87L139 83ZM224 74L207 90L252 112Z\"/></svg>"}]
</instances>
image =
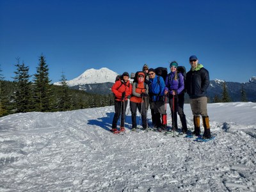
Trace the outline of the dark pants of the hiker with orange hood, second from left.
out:
<instances>
[{"instance_id":1,"label":"dark pants of the hiker with orange hood, second from left","mask_svg":"<svg viewBox=\"0 0 256 192\"><path fill-rule=\"evenodd\" d=\"M132 128L137 128L137 121L136 121L136 114L137 109L141 113L141 119L142 119L142 127L143 129L147 128L147 109L145 106L145 102L137 103L137 102L130 102L130 108L132 113Z\"/></svg>"}]
</instances>

